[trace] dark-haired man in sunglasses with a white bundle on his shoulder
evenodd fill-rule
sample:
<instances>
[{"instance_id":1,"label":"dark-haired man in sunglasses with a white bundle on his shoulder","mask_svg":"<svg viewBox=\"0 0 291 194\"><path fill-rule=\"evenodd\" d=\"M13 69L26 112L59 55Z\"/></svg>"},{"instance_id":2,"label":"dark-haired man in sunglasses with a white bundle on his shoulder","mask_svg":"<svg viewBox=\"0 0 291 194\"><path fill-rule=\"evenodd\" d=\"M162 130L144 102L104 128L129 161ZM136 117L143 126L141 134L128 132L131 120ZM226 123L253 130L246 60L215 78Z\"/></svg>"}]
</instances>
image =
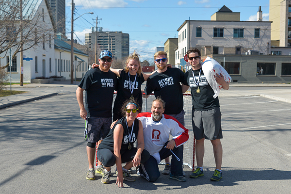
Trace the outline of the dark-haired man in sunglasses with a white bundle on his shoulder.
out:
<instances>
[{"instance_id":1,"label":"dark-haired man in sunglasses with a white bundle on his shoulder","mask_svg":"<svg viewBox=\"0 0 291 194\"><path fill-rule=\"evenodd\" d=\"M216 169L210 180L219 181L222 178L222 145L220 139L222 136L221 129L221 112L218 97L214 96L214 91L207 81L201 67L201 53L198 49L189 49L187 51L188 60L192 69L185 73L182 84L182 92L191 88L192 94L192 125L194 137L196 139L195 153L197 168L190 175L190 178L203 176L203 157L204 157L204 140L209 139L213 146ZM222 74L216 73L215 80L222 88L228 90L229 83L225 81Z\"/></svg>"}]
</instances>

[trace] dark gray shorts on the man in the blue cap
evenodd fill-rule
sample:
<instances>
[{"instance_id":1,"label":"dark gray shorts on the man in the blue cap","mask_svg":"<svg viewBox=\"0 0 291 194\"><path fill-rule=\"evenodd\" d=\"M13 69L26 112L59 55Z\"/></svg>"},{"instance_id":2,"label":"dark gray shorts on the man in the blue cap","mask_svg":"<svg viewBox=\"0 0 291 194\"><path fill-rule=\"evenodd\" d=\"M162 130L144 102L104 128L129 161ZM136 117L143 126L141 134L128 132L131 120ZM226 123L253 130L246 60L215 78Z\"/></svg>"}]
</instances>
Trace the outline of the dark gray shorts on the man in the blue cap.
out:
<instances>
[{"instance_id":1,"label":"dark gray shorts on the man in the blue cap","mask_svg":"<svg viewBox=\"0 0 291 194\"><path fill-rule=\"evenodd\" d=\"M111 120L111 117L101 118L90 116L88 118L88 138L86 138L86 141L97 143L99 140L103 140L110 130Z\"/></svg>"}]
</instances>

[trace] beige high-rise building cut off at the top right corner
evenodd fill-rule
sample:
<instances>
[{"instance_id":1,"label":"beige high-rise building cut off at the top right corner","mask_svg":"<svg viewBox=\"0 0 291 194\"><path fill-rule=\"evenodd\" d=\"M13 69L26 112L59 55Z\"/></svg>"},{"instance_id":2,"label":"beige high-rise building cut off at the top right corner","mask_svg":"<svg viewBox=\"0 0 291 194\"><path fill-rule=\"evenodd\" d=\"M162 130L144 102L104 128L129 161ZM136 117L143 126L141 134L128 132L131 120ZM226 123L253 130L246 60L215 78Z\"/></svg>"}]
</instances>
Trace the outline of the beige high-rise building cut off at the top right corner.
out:
<instances>
[{"instance_id":1,"label":"beige high-rise building cut off at the top right corner","mask_svg":"<svg viewBox=\"0 0 291 194\"><path fill-rule=\"evenodd\" d=\"M270 0L271 46L291 47L291 0Z\"/></svg>"}]
</instances>

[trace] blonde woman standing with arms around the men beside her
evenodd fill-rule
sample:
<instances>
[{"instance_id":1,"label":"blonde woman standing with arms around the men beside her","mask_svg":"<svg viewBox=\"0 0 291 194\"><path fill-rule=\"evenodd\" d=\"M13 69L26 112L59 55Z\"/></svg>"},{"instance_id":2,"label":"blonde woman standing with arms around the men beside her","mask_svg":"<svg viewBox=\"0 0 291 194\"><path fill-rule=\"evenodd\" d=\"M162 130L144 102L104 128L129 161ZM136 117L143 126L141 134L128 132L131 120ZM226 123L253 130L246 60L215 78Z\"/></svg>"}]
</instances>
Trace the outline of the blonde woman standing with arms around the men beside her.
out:
<instances>
[{"instance_id":1,"label":"blonde woman standing with arms around the men beside her","mask_svg":"<svg viewBox=\"0 0 291 194\"><path fill-rule=\"evenodd\" d=\"M134 51L130 53L126 60L124 69L110 69L118 76L118 89L113 106L113 121L122 118L123 115L120 112L120 108L123 102L128 99L135 99L138 105L143 107L142 93L144 93L144 91L141 90L141 85L156 71L153 71L151 74L143 73L139 56L140 55ZM97 66L97 64L93 64L92 68ZM139 112L141 112L141 110Z\"/></svg>"}]
</instances>

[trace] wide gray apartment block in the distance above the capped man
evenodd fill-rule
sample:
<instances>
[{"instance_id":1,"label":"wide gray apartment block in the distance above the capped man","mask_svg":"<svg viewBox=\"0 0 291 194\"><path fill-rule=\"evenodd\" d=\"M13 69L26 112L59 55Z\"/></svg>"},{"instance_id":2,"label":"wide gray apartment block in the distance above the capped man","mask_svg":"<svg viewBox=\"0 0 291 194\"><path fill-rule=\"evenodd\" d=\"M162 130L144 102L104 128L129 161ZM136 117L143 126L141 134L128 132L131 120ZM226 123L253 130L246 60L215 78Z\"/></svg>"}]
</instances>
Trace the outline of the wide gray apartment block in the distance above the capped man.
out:
<instances>
[{"instance_id":1,"label":"wide gray apartment block in the distance above the capped man","mask_svg":"<svg viewBox=\"0 0 291 194\"><path fill-rule=\"evenodd\" d=\"M95 52L97 33L97 56L101 50L110 50L115 59L129 56L129 34L122 32L91 32L85 34L85 45Z\"/></svg>"}]
</instances>

